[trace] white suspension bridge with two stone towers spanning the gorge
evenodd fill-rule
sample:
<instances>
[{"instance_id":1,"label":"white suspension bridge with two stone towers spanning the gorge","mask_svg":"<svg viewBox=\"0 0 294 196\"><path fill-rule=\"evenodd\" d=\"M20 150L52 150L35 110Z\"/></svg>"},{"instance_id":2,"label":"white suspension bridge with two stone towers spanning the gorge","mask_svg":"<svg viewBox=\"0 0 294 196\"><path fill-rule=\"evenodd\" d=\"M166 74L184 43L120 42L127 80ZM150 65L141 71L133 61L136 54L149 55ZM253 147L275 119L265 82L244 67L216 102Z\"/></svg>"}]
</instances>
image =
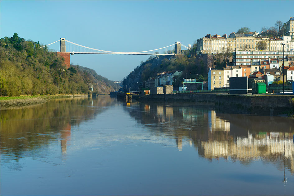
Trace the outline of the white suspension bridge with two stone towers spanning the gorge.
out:
<instances>
[{"instance_id":1,"label":"white suspension bridge with two stone towers spanning the gorge","mask_svg":"<svg viewBox=\"0 0 294 196\"><path fill-rule=\"evenodd\" d=\"M173 55L181 55L182 47L188 50L191 49L190 45L189 47L187 47L181 44L180 41L177 41L175 42L175 44L171 44L169 46L165 46L162 48L139 51L139 52L114 52L114 51L95 49L95 48L90 48L87 46L73 43L71 41L66 40L65 38L60 38L60 40L52 42L51 44L55 44L57 42L60 42L60 51L57 52L57 54L64 58L64 65L66 66L66 68L70 68L70 55L74 55L74 54L133 54L133 55L173 56ZM46 44L40 48L49 46L51 44Z\"/></svg>"}]
</instances>

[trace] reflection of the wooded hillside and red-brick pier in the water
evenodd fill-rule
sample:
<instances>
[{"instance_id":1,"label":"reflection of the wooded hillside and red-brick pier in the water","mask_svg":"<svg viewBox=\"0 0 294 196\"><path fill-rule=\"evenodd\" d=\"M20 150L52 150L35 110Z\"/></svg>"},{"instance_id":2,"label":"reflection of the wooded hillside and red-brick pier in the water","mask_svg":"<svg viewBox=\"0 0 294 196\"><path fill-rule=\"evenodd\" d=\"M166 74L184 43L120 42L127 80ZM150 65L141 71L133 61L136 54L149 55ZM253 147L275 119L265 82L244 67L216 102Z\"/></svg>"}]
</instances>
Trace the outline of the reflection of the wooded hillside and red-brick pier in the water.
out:
<instances>
[{"instance_id":1,"label":"reflection of the wooded hillside and red-brick pier in the water","mask_svg":"<svg viewBox=\"0 0 294 196\"><path fill-rule=\"evenodd\" d=\"M17 161L24 152L46 147L52 141L59 141L62 153L66 154L71 126L95 118L116 103L109 96L75 97L1 110L1 154Z\"/></svg>"}]
</instances>

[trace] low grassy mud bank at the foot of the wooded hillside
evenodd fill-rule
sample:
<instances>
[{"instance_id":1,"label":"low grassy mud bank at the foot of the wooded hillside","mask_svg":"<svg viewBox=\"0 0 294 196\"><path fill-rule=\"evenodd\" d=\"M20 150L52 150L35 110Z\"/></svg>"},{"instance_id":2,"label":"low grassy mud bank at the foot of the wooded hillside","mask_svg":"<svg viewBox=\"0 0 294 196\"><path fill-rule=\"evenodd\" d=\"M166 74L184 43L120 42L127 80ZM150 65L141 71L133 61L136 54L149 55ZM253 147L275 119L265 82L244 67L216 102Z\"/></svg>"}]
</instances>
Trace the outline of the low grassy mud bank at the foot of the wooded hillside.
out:
<instances>
[{"instance_id":1,"label":"low grassy mud bank at the foot of the wooded hillside","mask_svg":"<svg viewBox=\"0 0 294 196\"><path fill-rule=\"evenodd\" d=\"M18 96L18 97L0 97L0 107L9 108L16 106L35 105L49 101L50 99L66 98L73 96L88 96L86 94L79 95L35 95L35 96Z\"/></svg>"}]
</instances>

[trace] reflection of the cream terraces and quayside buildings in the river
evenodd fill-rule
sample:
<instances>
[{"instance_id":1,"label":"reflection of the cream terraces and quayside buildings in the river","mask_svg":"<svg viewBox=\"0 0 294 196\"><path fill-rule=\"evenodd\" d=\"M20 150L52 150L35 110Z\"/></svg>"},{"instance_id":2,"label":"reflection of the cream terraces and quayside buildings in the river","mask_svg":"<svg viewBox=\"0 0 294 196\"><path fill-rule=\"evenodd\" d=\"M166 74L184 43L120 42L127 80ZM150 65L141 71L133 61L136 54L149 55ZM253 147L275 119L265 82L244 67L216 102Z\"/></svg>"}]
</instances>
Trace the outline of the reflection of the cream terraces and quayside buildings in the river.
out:
<instances>
[{"instance_id":1,"label":"reflection of the cream terraces and quayside buildings in the river","mask_svg":"<svg viewBox=\"0 0 294 196\"><path fill-rule=\"evenodd\" d=\"M283 165L293 174L293 121L282 117L217 113L214 108L186 103L139 103L129 114L159 137L174 138L179 150L192 143L210 161L224 158ZM144 112L142 112L144 111ZM271 118L271 119L269 119ZM172 137L171 137L172 135Z\"/></svg>"}]
</instances>

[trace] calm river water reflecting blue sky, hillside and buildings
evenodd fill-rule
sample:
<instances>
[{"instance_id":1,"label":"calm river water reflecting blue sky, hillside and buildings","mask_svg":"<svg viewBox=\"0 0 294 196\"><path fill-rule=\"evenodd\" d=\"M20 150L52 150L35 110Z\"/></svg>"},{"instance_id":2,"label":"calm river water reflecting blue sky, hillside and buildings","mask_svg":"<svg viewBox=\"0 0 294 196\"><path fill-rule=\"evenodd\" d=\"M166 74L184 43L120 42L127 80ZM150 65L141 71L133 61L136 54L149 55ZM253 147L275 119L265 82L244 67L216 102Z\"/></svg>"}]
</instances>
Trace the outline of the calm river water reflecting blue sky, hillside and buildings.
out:
<instances>
[{"instance_id":1,"label":"calm river water reflecting blue sky, hillside and buildings","mask_svg":"<svg viewBox=\"0 0 294 196\"><path fill-rule=\"evenodd\" d=\"M293 120L66 98L1 110L1 195L293 195Z\"/></svg>"}]
</instances>

